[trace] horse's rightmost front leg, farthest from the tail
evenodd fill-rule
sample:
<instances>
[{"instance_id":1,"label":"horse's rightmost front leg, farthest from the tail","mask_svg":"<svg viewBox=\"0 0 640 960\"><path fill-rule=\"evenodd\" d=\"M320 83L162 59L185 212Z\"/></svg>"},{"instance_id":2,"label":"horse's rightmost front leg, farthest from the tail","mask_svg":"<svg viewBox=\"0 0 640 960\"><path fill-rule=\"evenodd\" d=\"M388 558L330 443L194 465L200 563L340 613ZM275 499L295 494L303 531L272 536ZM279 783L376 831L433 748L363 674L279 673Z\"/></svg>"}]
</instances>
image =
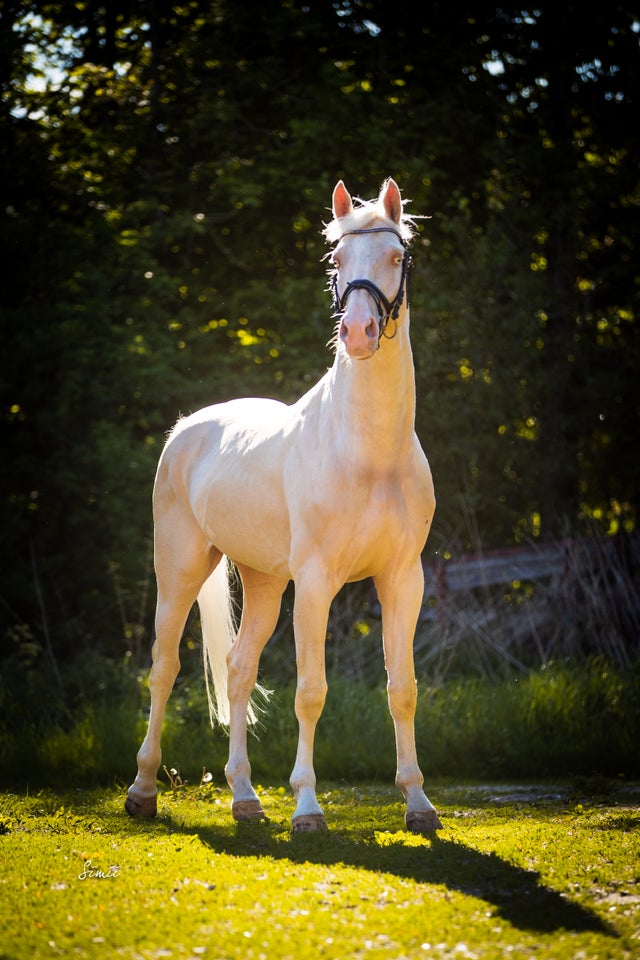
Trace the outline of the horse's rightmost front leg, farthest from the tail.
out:
<instances>
[{"instance_id":1,"label":"horse's rightmost front leg, farthest from the tail","mask_svg":"<svg viewBox=\"0 0 640 960\"><path fill-rule=\"evenodd\" d=\"M429 833L440 830L442 824L422 789L424 777L416 752L413 640L424 592L420 560L409 570L376 580L376 588L382 605L387 695L396 736L396 786L407 801L407 829Z\"/></svg>"}]
</instances>

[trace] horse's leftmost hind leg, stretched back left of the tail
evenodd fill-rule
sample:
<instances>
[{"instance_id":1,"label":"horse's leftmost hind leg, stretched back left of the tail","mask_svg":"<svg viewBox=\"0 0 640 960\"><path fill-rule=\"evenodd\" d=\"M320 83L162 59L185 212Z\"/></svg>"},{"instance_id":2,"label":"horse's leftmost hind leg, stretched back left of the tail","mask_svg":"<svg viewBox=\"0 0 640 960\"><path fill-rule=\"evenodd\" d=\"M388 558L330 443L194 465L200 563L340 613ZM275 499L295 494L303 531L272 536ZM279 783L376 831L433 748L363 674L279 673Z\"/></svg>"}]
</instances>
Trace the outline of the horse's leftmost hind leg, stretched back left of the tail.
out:
<instances>
[{"instance_id":1,"label":"horse's leftmost hind leg, stretched back left of the tail","mask_svg":"<svg viewBox=\"0 0 640 960\"><path fill-rule=\"evenodd\" d=\"M180 671L178 655L187 616L200 587L220 559L195 520L167 510L156 522L155 565L158 581L156 636L149 674L151 712L147 735L138 751L138 773L125 807L132 816L156 813L157 773L162 759L160 737L169 694Z\"/></svg>"}]
</instances>

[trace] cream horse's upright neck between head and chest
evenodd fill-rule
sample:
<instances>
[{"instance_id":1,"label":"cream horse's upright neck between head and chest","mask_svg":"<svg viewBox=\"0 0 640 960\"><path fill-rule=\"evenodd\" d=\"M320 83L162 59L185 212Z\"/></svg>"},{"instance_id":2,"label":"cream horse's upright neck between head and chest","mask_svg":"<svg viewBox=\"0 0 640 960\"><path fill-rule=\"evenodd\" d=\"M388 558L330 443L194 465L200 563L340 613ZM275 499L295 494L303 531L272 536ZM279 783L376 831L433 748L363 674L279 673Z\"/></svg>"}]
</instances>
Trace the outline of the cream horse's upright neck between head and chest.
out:
<instances>
[{"instance_id":1,"label":"cream horse's upright neck between head and chest","mask_svg":"<svg viewBox=\"0 0 640 960\"><path fill-rule=\"evenodd\" d=\"M336 355L331 370L335 416L351 452L383 466L413 441L416 389L408 324L382 339L370 360Z\"/></svg>"}]
</instances>

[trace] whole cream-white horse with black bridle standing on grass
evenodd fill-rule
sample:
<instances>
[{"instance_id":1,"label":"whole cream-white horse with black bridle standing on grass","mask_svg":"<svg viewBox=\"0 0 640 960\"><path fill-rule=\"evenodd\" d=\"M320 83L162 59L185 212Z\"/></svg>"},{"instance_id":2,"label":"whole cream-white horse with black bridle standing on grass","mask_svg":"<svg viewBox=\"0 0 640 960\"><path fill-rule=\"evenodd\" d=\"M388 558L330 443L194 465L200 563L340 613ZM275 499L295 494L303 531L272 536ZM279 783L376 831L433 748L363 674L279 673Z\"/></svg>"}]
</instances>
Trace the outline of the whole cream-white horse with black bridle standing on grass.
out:
<instances>
[{"instance_id":1,"label":"whole cream-white horse with black bridle standing on grass","mask_svg":"<svg viewBox=\"0 0 640 960\"><path fill-rule=\"evenodd\" d=\"M251 783L247 726L255 719L260 655L293 581L298 744L289 781L296 802L292 829L326 829L313 747L327 694L329 608L345 583L373 578L405 826L415 833L441 828L422 789L415 743L413 638L424 592L421 553L435 510L414 426L408 277L415 217L404 213L391 178L368 201L354 201L340 180L332 213L324 224L333 244L327 255L336 321L332 366L293 404L235 399L180 419L160 456L153 492L158 592L151 711L126 798L132 816L156 813L163 716L197 599L212 722L229 730L231 814L236 821L264 818ZM237 635L231 565L242 583Z\"/></svg>"}]
</instances>

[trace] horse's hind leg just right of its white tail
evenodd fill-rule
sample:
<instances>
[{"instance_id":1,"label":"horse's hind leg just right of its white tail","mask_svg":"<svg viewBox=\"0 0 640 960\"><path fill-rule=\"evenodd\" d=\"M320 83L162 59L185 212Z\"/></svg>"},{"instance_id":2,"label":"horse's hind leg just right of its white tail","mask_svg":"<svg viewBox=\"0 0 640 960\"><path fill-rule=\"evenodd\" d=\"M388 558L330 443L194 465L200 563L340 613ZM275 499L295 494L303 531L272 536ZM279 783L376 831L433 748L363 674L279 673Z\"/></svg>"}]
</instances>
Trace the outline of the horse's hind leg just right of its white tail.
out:
<instances>
[{"instance_id":1,"label":"horse's hind leg just right of its white tail","mask_svg":"<svg viewBox=\"0 0 640 960\"><path fill-rule=\"evenodd\" d=\"M238 636L229 651L229 761L225 767L233 800L235 820L255 820L264 811L251 784L247 752L247 706L258 676L260 654L273 633L280 612L286 580L275 579L238 565L242 579L242 619Z\"/></svg>"}]
</instances>

